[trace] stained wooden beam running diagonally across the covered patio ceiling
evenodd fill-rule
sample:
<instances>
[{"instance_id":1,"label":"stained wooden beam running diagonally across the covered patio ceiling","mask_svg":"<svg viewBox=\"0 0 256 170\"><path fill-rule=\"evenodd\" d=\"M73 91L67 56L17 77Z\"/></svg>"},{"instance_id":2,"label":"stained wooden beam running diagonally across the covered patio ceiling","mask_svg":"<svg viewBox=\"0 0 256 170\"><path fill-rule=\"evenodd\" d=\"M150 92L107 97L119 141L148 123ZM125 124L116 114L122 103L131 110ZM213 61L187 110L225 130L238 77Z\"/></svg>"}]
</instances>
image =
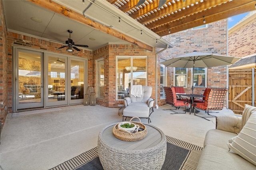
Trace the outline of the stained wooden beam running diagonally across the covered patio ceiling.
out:
<instances>
[{"instance_id":1,"label":"stained wooden beam running diagonally across the covered patio ceiling","mask_svg":"<svg viewBox=\"0 0 256 170\"><path fill-rule=\"evenodd\" d=\"M97 29L99 31L107 33L109 35L112 35L114 37L117 37L119 39L127 41L127 42L137 45L139 47L142 47L143 49L153 51L153 47L146 45L145 43L142 43L140 41L137 41L136 39L129 37L123 33L120 33L110 27L103 26L100 23L97 23L88 18L85 18L83 15L79 14L78 12L70 10L69 8L66 8L66 7L64 7L60 4L57 4L56 2L53 2L51 0L27 0L27 1L32 2L38 6L46 8L48 10L51 10L53 12L56 12L57 14L60 14L62 16L66 16L74 21L80 22L84 25L88 25L94 29Z\"/></svg>"}]
</instances>

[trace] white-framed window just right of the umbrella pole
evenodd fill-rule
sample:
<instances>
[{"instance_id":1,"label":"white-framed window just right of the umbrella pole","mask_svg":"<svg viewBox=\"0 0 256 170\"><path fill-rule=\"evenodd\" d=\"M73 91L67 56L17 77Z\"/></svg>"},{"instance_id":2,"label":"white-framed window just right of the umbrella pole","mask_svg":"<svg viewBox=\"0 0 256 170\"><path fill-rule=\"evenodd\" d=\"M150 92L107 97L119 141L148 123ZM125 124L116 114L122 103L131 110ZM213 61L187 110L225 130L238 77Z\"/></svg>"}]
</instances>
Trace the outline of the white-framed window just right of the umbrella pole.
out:
<instances>
[{"instance_id":1,"label":"white-framed window just right of the umbrella pole","mask_svg":"<svg viewBox=\"0 0 256 170\"><path fill-rule=\"evenodd\" d=\"M207 68L194 68L194 87L206 87L207 86L206 70L207 70Z\"/></svg>"}]
</instances>

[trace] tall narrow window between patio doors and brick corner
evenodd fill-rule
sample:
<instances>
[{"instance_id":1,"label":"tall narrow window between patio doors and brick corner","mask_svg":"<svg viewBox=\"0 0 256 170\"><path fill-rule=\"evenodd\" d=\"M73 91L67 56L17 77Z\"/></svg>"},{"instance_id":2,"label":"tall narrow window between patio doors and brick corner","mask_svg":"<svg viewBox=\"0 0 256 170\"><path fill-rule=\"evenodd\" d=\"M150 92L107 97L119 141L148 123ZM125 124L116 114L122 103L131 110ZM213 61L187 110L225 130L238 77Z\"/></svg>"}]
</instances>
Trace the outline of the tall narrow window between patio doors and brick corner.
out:
<instances>
[{"instance_id":1,"label":"tall narrow window between patio doors and brick corner","mask_svg":"<svg viewBox=\"0 0 256 170\"><path fill-rule=\"evenodd\" d=\"M96 61L97 69L97 98L104 98L104 59Z\"/></svg>"}]
</instances>

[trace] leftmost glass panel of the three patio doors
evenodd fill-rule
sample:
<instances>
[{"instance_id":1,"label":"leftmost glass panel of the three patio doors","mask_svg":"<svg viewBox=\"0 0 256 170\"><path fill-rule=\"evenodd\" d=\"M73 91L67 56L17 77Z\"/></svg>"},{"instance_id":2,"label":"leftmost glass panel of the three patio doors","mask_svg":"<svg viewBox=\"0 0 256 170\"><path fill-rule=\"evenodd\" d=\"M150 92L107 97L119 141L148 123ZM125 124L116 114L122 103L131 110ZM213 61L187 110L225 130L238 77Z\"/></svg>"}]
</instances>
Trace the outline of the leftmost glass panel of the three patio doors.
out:
<instances>
[{"instance_id":1,"label":"leftmost glass panel of the three patio doors","mask_svg":"<svg viewBox=\"0 0 256 170\"><path fill-rule=\"evenodd\" d=\"M43 53L16 49L15 110L44 106Z\"/></svg>"}]
</instances>

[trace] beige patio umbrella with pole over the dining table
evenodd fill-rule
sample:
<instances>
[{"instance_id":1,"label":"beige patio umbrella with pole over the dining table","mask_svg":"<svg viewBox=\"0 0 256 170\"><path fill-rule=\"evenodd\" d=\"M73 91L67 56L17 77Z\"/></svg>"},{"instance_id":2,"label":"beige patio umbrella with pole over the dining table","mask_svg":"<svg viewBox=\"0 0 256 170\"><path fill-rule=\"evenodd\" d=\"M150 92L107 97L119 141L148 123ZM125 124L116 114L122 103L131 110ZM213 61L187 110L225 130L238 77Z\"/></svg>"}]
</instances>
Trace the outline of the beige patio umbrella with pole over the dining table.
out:
<instances>
[{"instance_id":1,"label":"beige patio umbrella with pole over the dining table","mask_svg":"<svg viewBox=\"0 0 256 170\"><path fill-rule=\"evenodd\" d=\"M192 53L184 54L174 59L162 62L165 66L179 67L179 68L193 68L192 78L192 95L194 91L194 69L208 68L222 65L234 64L240 58L230 57L225 55L201 53L193 51Z\"/></svg>"}]
</instances>

